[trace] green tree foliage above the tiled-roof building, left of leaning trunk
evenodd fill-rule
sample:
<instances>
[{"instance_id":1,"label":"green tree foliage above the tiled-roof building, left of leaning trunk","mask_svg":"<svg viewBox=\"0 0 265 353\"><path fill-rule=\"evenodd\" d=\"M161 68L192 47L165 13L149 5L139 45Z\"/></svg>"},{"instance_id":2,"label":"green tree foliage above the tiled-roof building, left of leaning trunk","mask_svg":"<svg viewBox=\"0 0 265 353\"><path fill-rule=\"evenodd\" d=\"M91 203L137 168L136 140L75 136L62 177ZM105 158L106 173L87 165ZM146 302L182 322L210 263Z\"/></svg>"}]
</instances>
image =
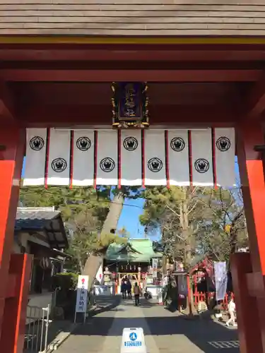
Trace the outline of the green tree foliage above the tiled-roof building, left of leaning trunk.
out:
<instances>
[{"instance_id":1,"label":"green tree foliage above the tiled-roof building, left of leaning trunk","mask_svg":"<svg viewBox=\"0 0 265 353\"><path fill-rule=\"evenodd\" d=\"M61 215L69 231L71 256L67 261L70 270L83 271L86 259L91 253L107 247L112 242L123 241L117 234L101 232L110 211L110 187L93 188L44 187L21 188L20 201L23 206L54 206Z\"/></svg>"}]
</instances>

